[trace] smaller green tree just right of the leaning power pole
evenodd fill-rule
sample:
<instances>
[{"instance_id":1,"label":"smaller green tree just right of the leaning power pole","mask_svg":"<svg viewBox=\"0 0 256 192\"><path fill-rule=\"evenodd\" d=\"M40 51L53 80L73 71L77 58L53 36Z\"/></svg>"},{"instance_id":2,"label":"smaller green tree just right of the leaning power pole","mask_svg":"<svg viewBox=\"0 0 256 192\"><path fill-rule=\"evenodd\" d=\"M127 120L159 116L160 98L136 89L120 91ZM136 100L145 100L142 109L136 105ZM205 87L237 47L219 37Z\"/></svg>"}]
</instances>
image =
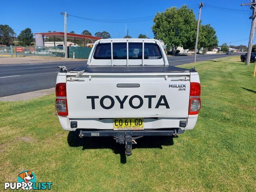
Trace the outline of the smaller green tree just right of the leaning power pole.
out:
<instances>
[{"instance_id":1,"label":"smaller green tree just right of the leaning power pole","mask_svg":"<svg viewBox=\"0 0 256 192\"><path fill-rule=\"evenodd\" d=\"M199 37L198 37L198 48L207 48L208 51L212 50L215 46L218 46L218 38L216 31L210 24L200 25Z\"/></svg>"}]
</instances>

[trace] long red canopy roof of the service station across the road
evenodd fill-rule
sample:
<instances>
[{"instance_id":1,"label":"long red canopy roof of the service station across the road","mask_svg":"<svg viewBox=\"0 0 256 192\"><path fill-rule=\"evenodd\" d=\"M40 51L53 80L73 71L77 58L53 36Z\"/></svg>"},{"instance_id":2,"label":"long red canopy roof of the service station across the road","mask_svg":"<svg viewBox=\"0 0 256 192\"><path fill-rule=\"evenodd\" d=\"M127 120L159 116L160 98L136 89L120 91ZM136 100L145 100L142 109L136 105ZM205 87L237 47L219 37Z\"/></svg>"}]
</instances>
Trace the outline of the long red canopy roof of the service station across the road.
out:
<instances>
[{"instance_id":1,"label":"long red canopy roof of the service station across the road","mask_svg":"<svg viewBox=\"0 0 256 192\"><path fill-rule=\"evenodd\" d=\"M42 33L35 33L36 34L41 34L46 37L56 37L56 38L64 38L64 32L42 32ZM67 33L67 38L76 38L76 39L91 39L91 40L99 40L101 39L100 37L96 36L90 36L90 35L81 35L81 34L75 34L75 33Z\"/></svg>"}]
</instances>

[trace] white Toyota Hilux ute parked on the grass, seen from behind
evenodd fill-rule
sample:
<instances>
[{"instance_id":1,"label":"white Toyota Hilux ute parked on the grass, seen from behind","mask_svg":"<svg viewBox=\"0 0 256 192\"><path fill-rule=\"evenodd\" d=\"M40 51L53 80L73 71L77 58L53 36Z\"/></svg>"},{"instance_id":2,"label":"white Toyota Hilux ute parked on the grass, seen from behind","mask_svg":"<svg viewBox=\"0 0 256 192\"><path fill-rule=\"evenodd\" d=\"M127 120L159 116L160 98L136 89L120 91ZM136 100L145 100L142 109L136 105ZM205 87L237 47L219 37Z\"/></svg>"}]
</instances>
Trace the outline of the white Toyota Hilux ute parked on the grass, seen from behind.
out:
<instances>
[{"instance_id":1,"label":"white Toyota Hilux ute parked on the grass, seen from behind","mask_svg":"<svg viewBox=\"0 0 256 192\"><path fill-rule=\"evenodd\" d=\"M155 39L101 39L87 65L62 66L56 110L64 130L79 136L111 136L126 155L142 136L172 136L194 128L200 110L194 68L170 66Z\"/></svg>"}]
</instances>

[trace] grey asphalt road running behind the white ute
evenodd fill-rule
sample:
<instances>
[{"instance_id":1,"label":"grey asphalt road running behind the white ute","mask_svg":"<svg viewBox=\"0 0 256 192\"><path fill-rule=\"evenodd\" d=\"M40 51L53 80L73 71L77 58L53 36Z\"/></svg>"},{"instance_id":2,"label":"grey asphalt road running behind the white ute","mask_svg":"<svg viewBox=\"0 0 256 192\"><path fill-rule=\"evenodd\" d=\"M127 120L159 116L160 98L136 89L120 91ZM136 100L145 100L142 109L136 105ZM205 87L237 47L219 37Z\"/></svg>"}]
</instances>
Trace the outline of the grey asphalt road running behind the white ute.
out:
<instances>
[{"instance_id":1,"label":"grey asphalt road running behind the white ute","mask_svg":"<svg viewBox=\"0 0 256 192\"><path fill-rule=\"evenodd\" d=\"M226 54L198 55L197 61L226 57ZM168 57L172 66L192 63L194 56ZM55 86L59 71L57 66L76 68L86 65L86 61L50 61L47 63L0 64L0 97L48 89Z\"/></svg>"}]
</instances>

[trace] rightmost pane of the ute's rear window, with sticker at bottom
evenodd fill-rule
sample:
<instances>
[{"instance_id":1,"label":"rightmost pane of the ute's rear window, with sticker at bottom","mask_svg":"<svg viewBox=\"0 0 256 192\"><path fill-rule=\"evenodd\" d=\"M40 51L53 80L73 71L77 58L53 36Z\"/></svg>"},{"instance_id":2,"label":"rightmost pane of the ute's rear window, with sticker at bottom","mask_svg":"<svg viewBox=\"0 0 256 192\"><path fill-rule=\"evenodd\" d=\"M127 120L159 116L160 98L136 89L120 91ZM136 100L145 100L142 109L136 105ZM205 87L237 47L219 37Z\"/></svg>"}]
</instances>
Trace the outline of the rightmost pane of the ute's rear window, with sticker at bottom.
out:
<instances>
[{"instance_id":1,"label":"rightmost pane of the ute's rear window, with sticker at bottom","mask_svg":"<svg viewBox=\"0 0 256 192\"><path fill-rule=\"evenodd\" d=\"M144 59L161 59L162 53L155 43L144 43Z\"/></svg>"}]
</instances>

